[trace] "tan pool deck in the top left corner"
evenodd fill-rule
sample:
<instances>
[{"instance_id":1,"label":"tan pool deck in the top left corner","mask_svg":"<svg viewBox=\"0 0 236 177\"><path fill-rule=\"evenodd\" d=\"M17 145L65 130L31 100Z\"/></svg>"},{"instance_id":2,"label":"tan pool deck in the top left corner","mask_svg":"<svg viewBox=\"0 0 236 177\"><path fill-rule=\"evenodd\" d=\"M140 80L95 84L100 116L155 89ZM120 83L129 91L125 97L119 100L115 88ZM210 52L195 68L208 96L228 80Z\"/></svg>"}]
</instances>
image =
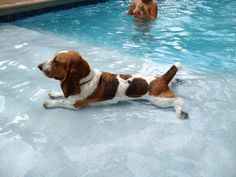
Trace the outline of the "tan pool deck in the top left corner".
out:
<instances>
[{"instance_id":1,"label":"tan pool deck in the top left corner","mask_svg":"<svg viewBox=\"0 0 236 177\"><path fill-rule=\"evenodd\" d=\"M0 16L84 1L86 0L0 0Z\"/></svg>"}]
</instances>

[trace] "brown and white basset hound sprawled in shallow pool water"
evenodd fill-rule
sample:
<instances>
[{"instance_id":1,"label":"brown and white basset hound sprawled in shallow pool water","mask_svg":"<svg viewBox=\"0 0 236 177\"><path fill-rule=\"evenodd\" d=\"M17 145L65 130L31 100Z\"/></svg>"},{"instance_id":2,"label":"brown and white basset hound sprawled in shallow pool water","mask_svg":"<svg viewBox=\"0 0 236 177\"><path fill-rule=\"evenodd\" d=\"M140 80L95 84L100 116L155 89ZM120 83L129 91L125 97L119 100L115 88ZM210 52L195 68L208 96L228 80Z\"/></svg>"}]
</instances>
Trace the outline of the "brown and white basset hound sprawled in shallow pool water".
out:
<instances>
[{"instance_id":1,"label":"brown and white basset hound sprawled in shallow pool water","mask_svg":"<svg viewBox=\"0 0 236 177\"><path fill-rule=\"evenodd\" d=\"M59 80L63 91L49 92L52 99L44 102L45 108L79 109L94 103L145 99L160 107L174 107L179 118L188 118L182 99L176 97L168 85L181 68L180 63L161 77L140 77L93 70L80 53L61 51L38 67L47 77Z\"/></svg>"}]
</instances>

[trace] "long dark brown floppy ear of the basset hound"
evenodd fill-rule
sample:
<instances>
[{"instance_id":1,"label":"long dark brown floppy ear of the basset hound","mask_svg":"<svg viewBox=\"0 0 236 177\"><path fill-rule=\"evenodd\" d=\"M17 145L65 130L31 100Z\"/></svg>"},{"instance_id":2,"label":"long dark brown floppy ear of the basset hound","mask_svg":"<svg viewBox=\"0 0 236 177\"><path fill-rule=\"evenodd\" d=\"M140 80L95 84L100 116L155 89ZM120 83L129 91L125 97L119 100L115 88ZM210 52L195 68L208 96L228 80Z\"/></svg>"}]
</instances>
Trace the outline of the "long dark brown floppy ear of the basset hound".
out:
<instances>
[{"instance_id":1,"label":"long dark brown floppy ear of the basset hound","mask_svg":"<svg viewBox=\"0 0 236 177\"><path fill-rule=\"evenodd\" d=\"M86 77L89 72L89 65L81 56L73 58L67 63L66 75L61 81L65 98L80 93L80 79Z\"/></svg>"}]
</instances>

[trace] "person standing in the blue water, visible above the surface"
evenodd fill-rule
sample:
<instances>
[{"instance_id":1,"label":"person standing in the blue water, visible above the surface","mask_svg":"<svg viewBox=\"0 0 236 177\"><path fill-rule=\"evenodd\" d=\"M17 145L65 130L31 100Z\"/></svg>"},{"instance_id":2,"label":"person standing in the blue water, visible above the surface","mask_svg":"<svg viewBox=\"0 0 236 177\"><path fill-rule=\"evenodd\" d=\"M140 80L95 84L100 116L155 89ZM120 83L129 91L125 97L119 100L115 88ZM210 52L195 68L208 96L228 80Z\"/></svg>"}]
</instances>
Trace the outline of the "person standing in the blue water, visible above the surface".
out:
<instances>
[{"instance_id":1,"label":"person standing in the blue water, visible above the surface","mask_svg":"<svg viewBox=\"0 0 236 177\"><path fill-rule=\"evenodd\" d=\"M130 3L128 15L153 20L157 17L158 4L156 0L134 0Z\"/></svg>"}]
</instances>

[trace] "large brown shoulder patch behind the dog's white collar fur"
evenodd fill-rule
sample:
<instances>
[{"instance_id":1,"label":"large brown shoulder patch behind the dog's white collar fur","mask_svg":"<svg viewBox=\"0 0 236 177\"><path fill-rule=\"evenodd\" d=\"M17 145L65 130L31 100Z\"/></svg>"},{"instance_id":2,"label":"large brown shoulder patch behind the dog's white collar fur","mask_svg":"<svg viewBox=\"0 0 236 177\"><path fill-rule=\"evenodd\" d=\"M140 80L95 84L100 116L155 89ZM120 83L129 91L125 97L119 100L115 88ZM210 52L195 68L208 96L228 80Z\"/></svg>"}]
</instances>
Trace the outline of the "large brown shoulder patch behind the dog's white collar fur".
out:
<instances>
[{"instance_id":1,"label":"large brown shoulder patch behind the dog's white collar fur","mask_svg":"<svg viewBox=\"0 0 236 177\"><path fill-rule=\"evenodd\" d=\"M77 101L75 107L80 107L92 102L110 100L115 97L119 86L119 81L116 74L103 72L94 92L85 100Z\"/></svg>"}]
</instances>

